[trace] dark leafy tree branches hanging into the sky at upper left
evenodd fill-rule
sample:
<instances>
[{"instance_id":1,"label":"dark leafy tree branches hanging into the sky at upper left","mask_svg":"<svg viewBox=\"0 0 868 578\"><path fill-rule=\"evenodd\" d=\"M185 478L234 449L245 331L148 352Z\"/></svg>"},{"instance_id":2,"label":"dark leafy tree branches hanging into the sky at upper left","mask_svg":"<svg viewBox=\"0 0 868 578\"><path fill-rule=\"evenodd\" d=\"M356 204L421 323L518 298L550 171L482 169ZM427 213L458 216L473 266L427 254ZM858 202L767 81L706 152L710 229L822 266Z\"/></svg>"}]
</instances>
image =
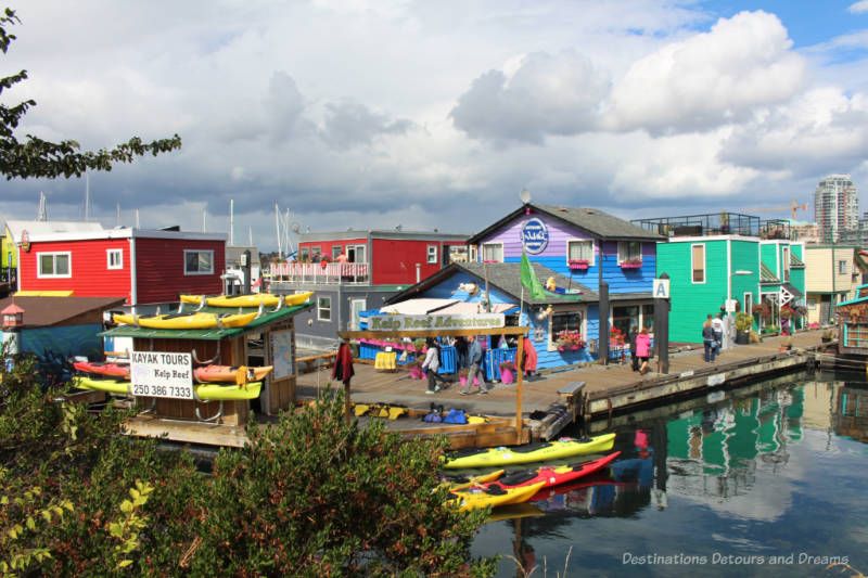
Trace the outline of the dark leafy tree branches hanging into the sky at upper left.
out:
<instances>
[{"instance_id":1,"label":"dark leafy tree branches hanging into the sky at upper left","mask_svg":"<svg viewBox=\"0 0 868 578\"><path fill-rule=\"evenodd\" d=\"M15 11L9 8L0 15L0 50L4 54L15 40L15 35L9 34L7 28L20 23ZM27 70L0 78L0 95L26 79ZM101 149L95 152L80 151L81 146L74 140L51 142L26 134L23 141L20 141L15 136L15 129L33 106L36 106L36 101L33 99L14 106L0 104L0 172L5 175L7 179L80 177L86 170L112 170L112 165L115 163L131 163L137 156L145 154L156 156L181 147L181 138L178 134L150 143L133 137L114 149Z\"/></svg>"}]
</instances>

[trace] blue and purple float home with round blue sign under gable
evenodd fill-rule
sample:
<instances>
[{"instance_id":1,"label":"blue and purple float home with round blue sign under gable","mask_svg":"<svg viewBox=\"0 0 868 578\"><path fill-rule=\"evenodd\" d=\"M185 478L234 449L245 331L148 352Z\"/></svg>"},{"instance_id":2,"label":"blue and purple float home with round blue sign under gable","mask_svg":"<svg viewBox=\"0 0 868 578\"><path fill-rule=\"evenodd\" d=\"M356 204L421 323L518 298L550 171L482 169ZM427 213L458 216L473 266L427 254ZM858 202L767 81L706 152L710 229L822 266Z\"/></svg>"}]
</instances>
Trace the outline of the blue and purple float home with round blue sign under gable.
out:
<instances>
[{"instance_id":1,"label":"blue and purple float home with round blue sign under gable","mask_svg":"<svg viewBox=\"0 0 868 578\"><path fill-rule=\"evenodd\" d=\"M599 358L603 284L610 326L624 334L630 325L652 326L660 241L665 237L598 209L525 203L468 240L469 262L449 265L386 305L413 298L476 303L478 311L485 310L486 299L501 309L511 305L503 310L507 323L531 327L539 369L590 362ZM524 288L522 252L554 295L533 298ZM580 336L582 346L565 342L571 333Z\"/></svg>"}]
</instances>

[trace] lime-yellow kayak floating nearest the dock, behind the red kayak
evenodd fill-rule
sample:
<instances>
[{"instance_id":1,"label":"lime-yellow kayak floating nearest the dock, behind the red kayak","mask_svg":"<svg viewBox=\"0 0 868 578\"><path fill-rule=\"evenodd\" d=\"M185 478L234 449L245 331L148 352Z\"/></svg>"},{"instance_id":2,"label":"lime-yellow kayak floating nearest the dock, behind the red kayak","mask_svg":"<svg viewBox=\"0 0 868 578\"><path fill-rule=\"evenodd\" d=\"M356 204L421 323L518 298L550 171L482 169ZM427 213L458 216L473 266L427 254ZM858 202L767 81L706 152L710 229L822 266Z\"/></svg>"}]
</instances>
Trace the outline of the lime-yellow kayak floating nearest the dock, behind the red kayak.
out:
<instances>
[{"instance_id":1,"label":"lime-yellow kayak floating nearest the dock, behind the red kayak","mask_svg":"<svg viewBox=\"0 0 868 578\"><path fill-rule=\"evenodd\" d=\"M512 448L459 450L455 458L446 459L443 467L489 467L559 460L587 453L608 451L615 445L615 434L603 434L588 441L564 437L554 441L538 441Z\"/></svg>"}]
</instances>

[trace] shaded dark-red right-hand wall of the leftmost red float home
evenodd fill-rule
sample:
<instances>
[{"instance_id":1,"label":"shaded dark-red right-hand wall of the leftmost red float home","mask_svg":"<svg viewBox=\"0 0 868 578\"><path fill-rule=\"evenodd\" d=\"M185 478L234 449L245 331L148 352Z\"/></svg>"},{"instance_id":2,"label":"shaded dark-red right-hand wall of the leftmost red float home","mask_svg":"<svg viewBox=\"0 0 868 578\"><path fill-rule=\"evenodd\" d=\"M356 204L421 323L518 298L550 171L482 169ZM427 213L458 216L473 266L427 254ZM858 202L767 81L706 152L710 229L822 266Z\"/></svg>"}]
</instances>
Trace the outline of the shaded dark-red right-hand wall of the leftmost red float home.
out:
<instances>
[{"instance_id":1,"label":"shaded dark-red right-hand wall of the leftmost red float home","mask_svg":"<svg viewBox=\"0 0 868 578\"><path fill-rule=\"evenodd\" d=\"M214 273L184 274L184 251L213 251ZM177 301L181 293L218 294L226 264L224 241L136 237L138 304Z\"/></svg>"}]
</instances>

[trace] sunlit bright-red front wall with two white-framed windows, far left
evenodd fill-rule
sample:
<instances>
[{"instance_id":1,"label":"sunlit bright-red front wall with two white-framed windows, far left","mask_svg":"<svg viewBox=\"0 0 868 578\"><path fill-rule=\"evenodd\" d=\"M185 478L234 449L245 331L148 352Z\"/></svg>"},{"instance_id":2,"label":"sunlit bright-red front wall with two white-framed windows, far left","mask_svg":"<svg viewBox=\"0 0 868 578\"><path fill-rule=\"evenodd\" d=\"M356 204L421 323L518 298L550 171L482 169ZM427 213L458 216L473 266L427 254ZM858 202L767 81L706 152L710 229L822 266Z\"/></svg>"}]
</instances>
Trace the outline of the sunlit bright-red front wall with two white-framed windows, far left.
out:
<instances>
[{"instance_id":1,"label":"sunlit bright-red front wall with two white-framed windows, far left","mask_svg":"<svg viewBox=\"0 0 868 578\"><path fill-rule=\"evenodd\" d=\"M123 251L123 269L108 269L108 249ZM39 279L40 253L69 253L72 277ZM72 291L76 297L124 297L129 303L129 253L127 239L34 242L28 253L21 252L18 287L22 291Z\"/></svg>"}]
</instances>

